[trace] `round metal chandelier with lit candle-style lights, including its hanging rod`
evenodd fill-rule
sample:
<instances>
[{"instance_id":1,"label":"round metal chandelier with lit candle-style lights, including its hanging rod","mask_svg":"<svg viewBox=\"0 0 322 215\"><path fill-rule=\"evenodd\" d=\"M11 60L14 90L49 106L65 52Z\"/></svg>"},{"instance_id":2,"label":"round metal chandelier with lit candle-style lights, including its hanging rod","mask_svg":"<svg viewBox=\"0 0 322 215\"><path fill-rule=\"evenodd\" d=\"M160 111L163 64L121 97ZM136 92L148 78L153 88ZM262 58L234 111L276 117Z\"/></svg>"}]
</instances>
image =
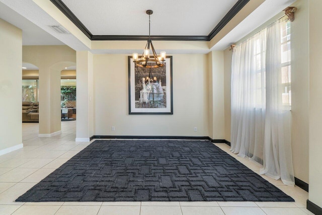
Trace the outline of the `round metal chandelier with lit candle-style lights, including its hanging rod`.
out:
<instances>
[{"instance_id":1,"label":"round metal chandelier with lit candle-style lights, including its hanging rod","mask_svg":"<svg viewBox=\"0 0 322 215\"><path fill-rule=\"evenodd\" d=\"M137 53L133 53L133 62L135 63L135 65L139 66L139 67L145 67L145 68L157 68L157 67L162 67L165 65L165 61L166 61L166 52L165 51L161 51L160 52L160 56L156 55L154 46L152 44L151 41L151 37L150 37L150 15L153 14L152 10L147 10L146 14L149 15L149 38L147 40L147 43L145 45L145 48L143 50L143 54L141 56L141 58L138 58L138 54ZM153 57L150 57L150 47L153 53Z\"/></svg>"}]
</instances>

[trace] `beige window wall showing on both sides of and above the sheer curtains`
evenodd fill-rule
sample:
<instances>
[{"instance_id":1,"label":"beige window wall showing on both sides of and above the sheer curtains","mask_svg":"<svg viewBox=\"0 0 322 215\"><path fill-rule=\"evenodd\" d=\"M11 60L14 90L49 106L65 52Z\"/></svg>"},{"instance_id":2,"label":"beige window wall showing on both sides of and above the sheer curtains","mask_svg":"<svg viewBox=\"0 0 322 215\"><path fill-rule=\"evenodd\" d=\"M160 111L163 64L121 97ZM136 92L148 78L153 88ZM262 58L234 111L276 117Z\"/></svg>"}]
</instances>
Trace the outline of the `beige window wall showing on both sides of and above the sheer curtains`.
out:
<instances>
[{"instance_id":1,"label":"beige window wall showing on both sides of and above the sheer curtains","mask_svg":"<svg viewBox=\"0 0 322 215\"><path fill-rule=\"evenodd\" d=\"M292 53L292 158L294 175L308 183L308 2L297 1L295 21L291 23ZM256 29L255 34L281 15ZM241 41L245 40L247 37ZM232 52L224 51L225 139L230 141L230 78Z\"/></svg>"}]
</instances>

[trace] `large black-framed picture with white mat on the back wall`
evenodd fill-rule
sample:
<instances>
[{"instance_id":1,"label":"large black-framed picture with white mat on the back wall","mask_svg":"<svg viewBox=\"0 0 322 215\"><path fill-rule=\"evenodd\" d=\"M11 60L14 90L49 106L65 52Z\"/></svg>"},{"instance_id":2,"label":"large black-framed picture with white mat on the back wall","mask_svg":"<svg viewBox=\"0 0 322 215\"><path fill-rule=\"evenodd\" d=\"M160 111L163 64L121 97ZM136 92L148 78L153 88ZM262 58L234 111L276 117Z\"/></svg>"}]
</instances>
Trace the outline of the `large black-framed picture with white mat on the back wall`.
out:
<instances>
[{"instance_id":1,"label":"large black-framed picture with white mat on the back wall","mask_svg":"<svg viewBox=\"0 0 322 215\"><path fill-rule=\"evenodd\" d=\"M128 56L129 114L173 114L172 56L158 68L136 66Z\"/></svg>"}]
</instances>

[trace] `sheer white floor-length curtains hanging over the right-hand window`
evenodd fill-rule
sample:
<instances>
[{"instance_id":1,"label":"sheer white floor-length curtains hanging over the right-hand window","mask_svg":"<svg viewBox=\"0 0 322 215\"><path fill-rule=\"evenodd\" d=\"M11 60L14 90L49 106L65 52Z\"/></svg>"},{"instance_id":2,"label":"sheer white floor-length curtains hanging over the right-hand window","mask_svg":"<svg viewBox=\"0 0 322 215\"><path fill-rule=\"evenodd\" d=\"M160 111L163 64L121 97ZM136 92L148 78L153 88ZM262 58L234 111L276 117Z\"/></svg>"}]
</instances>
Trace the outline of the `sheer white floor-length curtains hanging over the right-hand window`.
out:
<instances>
[{"instance_id":1,"label":"sheer white floor-length curtains hanging over the right-hand window","mask_svg":"<svg viewBox=\"0 0 322 215\"><path fill-rule=\"evenodd\" d=\"M230 151L262 164L260 174L293 186L291 113L282 102L285 23L274 22L233 50Z\"/></svg>"}]
</instances>

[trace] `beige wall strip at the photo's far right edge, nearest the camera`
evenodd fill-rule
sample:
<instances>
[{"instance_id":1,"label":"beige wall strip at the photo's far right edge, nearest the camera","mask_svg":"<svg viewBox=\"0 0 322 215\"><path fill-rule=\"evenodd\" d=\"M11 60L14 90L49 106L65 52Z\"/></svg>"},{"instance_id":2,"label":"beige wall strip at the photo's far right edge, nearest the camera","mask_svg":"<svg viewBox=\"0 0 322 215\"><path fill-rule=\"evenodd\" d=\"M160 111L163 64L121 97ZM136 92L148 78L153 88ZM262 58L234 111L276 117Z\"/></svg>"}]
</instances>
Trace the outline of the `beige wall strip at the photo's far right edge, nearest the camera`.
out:
<instances>
[{"instance_id":1,"label":"beige wall strip at the photo's far right edge, nearest the camera","mask_svg":"<svg viewBox=\"0 0 322 215\"><path fill-rule=\"evenodd\" d=\"M309 192L308 200L322 207L322 2L309 1Z\"/></svg>"}]
</instances>

